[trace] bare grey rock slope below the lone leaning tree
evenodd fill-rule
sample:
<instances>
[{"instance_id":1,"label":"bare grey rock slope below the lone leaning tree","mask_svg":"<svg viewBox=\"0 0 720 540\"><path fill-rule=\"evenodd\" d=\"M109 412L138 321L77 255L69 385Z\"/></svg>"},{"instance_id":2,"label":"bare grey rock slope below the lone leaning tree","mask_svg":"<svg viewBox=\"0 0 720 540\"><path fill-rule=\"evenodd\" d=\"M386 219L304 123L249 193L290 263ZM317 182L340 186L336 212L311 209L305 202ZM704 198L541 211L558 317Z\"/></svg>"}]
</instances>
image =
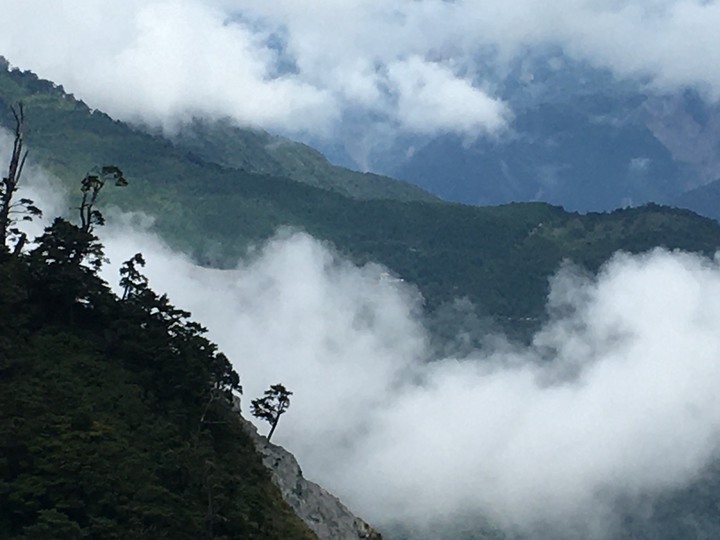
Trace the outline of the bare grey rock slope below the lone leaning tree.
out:
<instances>
[{"instance_id":1,"label":"bare grey rock slope below the lone leaning tree","mask_svg":"<svg viewBox=\"0 0 720 540\"><path fill-rule=\"evenodd\" d=\"M306 480L295 456L259 435L250 422L244 423L285 502L320 540L382 540L380 533L353 515L337 497Z\"/></svg>"}]
</instances>

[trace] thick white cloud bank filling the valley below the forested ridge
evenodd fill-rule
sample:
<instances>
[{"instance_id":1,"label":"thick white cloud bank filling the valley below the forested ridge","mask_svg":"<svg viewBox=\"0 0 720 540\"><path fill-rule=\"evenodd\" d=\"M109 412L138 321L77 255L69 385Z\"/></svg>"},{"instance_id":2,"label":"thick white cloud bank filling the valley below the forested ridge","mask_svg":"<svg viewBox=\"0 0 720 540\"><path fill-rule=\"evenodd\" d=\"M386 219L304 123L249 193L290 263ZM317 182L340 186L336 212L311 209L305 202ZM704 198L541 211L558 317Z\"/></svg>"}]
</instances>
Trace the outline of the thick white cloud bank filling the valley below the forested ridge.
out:
<instances>
[{"instance_id":1,"label":"thick white cloud bank filling the valley below the forested ridge","mask_svg":"<svg viewBox=\"0 0 720 540\"><path fill-rule=\"evenodd\" d=\"M22 196L46 216L70 206L42 171L27 178ZM104 211L108 282L143 252L151 286L233 361L246 414L284 383L276 442L372 522L482 513L590 538L617 501L687 486L718 457L718 260L658 249L617 254L597 276L565 266L530 346L488 336L428 362L418 293L380 266L284 231L233 270L200 268L147 216Z\"/></svg>"}]
</instances>

